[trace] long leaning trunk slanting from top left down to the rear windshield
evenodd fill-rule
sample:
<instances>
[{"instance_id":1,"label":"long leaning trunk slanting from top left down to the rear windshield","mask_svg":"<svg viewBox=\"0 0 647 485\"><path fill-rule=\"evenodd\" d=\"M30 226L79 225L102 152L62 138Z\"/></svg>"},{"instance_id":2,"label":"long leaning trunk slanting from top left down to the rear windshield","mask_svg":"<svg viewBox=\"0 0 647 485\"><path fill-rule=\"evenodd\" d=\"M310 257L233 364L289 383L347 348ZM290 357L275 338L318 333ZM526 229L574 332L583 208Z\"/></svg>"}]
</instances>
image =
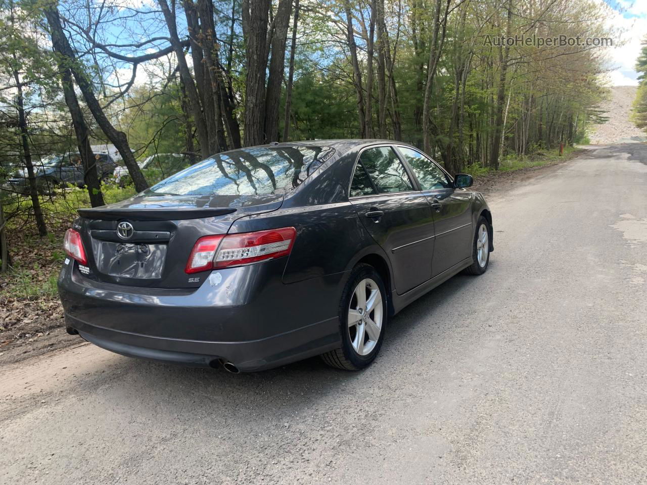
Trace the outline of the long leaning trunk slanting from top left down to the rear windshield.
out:
<instances>
[{"instance_id":1,"label":"long leaning trunk slanting from top left down to the rear windshield","mask_svg":"<svg viewBox=\"0 0 647 485\"><path fill-rule=\"evenodd\" d=\"M101 127L105 136L107 136L112 144L115 145L116 149L119 151L119 154L122 156L124 164L126 164L126 167L128 169L128 173L133 179L135 188L138 191L146 190L148 188L148 183L146 182L146 178L144 178L141 169L137 165L135 156L133 156L133 152L131 151L128 140L126 138L126 133L124 133L123 131L117 131L111 124L111 122L105 116L104 110L96 99L96 96L94 96L92 85L87 79L85 72L80 72L76 68L76 63L74 62L76 57L74 56L74 51L72 51L72 47L69 41L65 37L65 32L63 32L63 26L61 25L61 19L58 15L58 10L56 10L54 6L50 6L49 8L45 9L45 16L47 17L47 23L49 23L50 26L50 34L52 36L52 45L54 47L54 50L56 50L56 52L59 52L63 56L63 58L67 58L65 59L65 62L69 63L69 65L71 66L70 69L72 71L72 74L74 75L74 80L76 80L76 85L78 85L83 94L83 98L85 99L87 107L89 107L94 116L94 119Z\"/></svg>"}]
</instances>

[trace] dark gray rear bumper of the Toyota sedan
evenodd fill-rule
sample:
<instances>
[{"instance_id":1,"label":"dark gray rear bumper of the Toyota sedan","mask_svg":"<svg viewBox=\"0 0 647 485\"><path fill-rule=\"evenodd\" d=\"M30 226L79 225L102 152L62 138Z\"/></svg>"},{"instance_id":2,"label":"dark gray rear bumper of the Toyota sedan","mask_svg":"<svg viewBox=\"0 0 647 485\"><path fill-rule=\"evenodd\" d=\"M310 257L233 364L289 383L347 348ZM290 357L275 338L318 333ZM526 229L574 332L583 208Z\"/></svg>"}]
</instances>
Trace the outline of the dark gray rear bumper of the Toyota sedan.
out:
<instances>
[{"instance_id":1,"label":"dark gray rear bumper of the Toyota sedan","mask_svg":"<svg viewBox=\"0 0 647 485\"><path fill-rule=\"evenodd\" d=\"M71 261L58 288L67 327L126 356L200 367L230 361L249 372L338 348L345 274L286 285L274 270L241 266L221 271L223 285L150 290L89 280Z\"/></svg>"}]
</instances>

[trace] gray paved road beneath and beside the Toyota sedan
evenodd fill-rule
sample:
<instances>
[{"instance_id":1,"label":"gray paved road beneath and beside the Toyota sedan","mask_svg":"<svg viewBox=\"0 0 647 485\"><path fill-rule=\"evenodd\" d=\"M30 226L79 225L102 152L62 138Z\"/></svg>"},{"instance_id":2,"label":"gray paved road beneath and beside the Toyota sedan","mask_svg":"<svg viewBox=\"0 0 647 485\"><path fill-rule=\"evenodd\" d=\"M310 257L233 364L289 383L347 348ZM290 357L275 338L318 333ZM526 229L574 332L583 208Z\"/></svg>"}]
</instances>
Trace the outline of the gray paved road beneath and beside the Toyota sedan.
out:
<instances>
[{"instance_id":1,"label":"gray paved road beneath and beside the Toyota sedan","mask_svg":"<svg viewBox=\"0 0 647 485\"><path fill-rule=\"evenodd\" d=\"M0 483L646 482L647 146L510 186L487 274L399 314L367 371L90 345L3 369Z\"/></svg>"}]
</instances>

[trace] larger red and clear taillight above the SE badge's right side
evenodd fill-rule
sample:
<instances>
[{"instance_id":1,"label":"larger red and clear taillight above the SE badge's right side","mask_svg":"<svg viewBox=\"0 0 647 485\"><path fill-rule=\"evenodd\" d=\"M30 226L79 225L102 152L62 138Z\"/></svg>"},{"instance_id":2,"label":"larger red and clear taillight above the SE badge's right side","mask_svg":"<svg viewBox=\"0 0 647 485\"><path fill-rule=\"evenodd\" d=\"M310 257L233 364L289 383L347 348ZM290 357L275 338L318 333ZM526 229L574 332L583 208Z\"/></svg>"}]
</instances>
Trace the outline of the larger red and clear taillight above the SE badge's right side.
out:
<instances>
[{"instance_id":1,"label":"larger red and clear taillight above the SE badge's right side","mask_svg":"<svg viewBox=\"0 0 647 485\"><path fill-rule=\"evenodd\" d=\"M294 228L201 237L193 246L185 271L196 273L286 256L295 237Z\"/></svg>"}]
</instances>

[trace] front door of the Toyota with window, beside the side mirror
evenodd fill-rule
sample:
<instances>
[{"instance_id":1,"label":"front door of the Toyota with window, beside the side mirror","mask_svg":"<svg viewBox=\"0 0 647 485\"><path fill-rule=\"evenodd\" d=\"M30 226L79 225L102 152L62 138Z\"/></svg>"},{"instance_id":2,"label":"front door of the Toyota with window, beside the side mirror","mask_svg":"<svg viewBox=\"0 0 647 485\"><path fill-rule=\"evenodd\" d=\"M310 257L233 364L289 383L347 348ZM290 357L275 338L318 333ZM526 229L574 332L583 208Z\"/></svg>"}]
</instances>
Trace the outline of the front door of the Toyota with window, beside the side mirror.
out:
<instances>
[{"instance_id":1,"label":"front door of the Toyota with window, beside the side mirror","mask_svg":"<svg viewBox=\"0 0 647 485\"><path fill-rule=\"evenodd\" d=\"M398 146L433 208L435 248L432 274L441 274L472 253L472 192L454 188L453 180L431 158Z\"/></svg>"}]
</instances>

